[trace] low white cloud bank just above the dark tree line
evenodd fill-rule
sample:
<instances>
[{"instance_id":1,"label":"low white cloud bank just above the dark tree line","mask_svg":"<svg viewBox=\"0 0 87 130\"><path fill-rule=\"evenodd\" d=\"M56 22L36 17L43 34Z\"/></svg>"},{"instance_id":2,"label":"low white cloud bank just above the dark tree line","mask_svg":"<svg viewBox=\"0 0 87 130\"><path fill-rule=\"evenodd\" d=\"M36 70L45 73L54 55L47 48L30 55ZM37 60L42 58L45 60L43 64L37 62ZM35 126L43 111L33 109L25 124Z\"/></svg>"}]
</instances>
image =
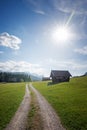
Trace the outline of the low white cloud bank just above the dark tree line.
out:
<instances>
[{"instance_id":1,"label":"low white cloud bank just above the dark tree line","mask_svg":"<svg viewBox=\"0 0 87 130\"><path fill-rule=\"evenodd\" d=\"M25 61L0 62L0 70L9 72L30 72L38 75L42 75L44 73L43 68L41 68L39 64L32 64Z\"/></svg>"}]
</instances>

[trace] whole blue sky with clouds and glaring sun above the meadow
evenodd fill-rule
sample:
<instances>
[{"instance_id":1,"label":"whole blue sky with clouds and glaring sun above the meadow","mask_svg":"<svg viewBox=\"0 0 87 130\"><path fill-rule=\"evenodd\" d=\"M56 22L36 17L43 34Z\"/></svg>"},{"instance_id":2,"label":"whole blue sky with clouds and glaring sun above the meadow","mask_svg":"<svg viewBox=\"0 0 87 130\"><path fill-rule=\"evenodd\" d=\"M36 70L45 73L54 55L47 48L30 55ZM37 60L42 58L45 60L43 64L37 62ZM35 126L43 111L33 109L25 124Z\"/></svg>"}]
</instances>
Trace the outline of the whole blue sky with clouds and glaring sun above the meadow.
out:
<instances>
[{"instance_id":1,"label":"whole blue sky with clouds and glaring sun above the meadow","mask_svg":"<svg viewBox=\"0 0 87 130\"><path fill-rule=\"evenodd\" d=\"M0 71L87 72L87 0L0 0Z\"/></svg>"}]
</instances>

